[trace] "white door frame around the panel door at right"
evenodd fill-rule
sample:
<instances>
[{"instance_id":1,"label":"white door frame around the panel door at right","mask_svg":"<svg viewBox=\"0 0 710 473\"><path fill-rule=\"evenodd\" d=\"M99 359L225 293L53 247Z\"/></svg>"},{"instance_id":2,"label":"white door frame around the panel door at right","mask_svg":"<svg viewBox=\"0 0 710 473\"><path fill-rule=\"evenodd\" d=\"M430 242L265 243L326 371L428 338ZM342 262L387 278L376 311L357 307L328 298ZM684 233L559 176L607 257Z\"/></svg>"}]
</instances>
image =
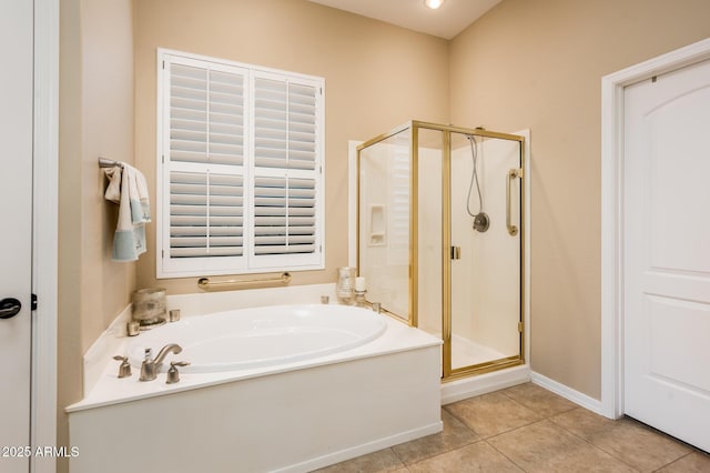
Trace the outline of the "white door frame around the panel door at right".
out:
<instances>
[{"instance_id":1,"label":"white door frame around the panel door at right","mask_svg":"<svg viewBox=\"0 0 710 473\"><path fill-rule=\"evenodd\" d=\"M710 59L710 38L601 79L601 413L623 415L623 95L627 85Z\"/></svg>"}]
</instances>

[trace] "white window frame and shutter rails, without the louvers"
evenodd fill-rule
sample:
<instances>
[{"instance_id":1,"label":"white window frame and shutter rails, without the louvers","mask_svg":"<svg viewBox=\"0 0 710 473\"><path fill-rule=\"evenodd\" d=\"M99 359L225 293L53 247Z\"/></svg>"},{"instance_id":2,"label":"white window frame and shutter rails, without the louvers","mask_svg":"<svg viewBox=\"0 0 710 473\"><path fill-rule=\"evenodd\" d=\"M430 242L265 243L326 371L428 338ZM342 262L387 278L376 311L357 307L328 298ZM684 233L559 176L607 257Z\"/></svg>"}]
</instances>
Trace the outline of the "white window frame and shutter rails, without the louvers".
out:
<instances>
[{"instance_id":1,"label":"white window frame and shutter rails, without the louvers","mask_svg":"<svg viewBox=\"0 0 710 473\"><path fill-rule=\"evenodd\" d=\"M320 77L303 73L283 71L264 68L255 64L235 62L225 59L212 58L201 54L193 54L183 51L159 48L156 51L158 90L156 90L156 238L155 238L155 261L156 278L192 278L204 275L224 274L252 274L274 271L312 271L325 268L325 80ZM171 98L171 72L165 64L171 61L194 67L215 66L217 70L244 74L244 97L243 97L243 245L242 255L239 256L194 256L175 258L171 256L171 210L170 210L170 183L171 171L209 169L214 172L234 172L237 164L204 164L183 161L170 161L171 151L171 127L170 98ZM303 84L315 90L315 157L314 169L302 171L290 169L288 165L276 168L257 168L255 165L255 80L256 78L270 78L276 81L283 80L285 87L294 83ZM286 107L291 104L286 99ZM290 110L290 109L287 109ZM287 123L291 123L288 120ZM286 128L287 133L288 128ZM290 139L286 140L286 152ZM255 225L255 201L254 179L256 175L274 175L286 179L300 179L306 177L314 180L315 202L314 211L314 233L313 252L280 254L255 254L254 225ZM288 188L284 188L288 192ZM206 194L205 194L206 195ZM288 221L288 217L286 217ZM290 221L288 221L290 222ZM290 222L291 223L291 222ZM287 227L291 227L290 224ZM209 238L209 236L207 236Z\"/></svg>"}]
</instances>

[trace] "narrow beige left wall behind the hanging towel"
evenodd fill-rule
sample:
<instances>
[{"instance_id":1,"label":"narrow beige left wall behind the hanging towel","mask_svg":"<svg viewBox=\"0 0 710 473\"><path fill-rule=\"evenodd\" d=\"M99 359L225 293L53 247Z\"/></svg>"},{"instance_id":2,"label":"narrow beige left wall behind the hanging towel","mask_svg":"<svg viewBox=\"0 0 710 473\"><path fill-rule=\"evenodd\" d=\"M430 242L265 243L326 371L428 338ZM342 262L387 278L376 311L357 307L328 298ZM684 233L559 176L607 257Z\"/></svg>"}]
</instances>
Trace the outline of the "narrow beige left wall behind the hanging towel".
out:
<instances>
[{"instance_id":1,"label":"narrow beige left wall behind the hanging towel","mask_svg":"<svg viewBox=\"0 0 710 473\"><path fill-rule=\"evenodd\" d=\"M83 353L135 288L135 263L111 261L116 205L97 163L134 161L133 7L62 0L60 14L58 444L69 445L63 407L81 399Z\"/></svg>"}]
</instances>

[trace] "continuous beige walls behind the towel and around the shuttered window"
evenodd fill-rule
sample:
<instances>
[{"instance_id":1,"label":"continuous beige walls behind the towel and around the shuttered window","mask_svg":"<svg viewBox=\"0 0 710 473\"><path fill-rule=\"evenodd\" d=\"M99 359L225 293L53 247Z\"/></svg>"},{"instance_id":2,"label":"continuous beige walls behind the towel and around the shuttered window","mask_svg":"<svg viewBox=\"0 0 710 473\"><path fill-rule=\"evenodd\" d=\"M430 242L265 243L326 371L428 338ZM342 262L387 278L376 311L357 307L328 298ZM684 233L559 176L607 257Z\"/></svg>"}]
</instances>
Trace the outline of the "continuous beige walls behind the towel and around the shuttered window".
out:
<instances>
[{"instance_id":1,"label":"continuous beige walls behind the towel and around the shuttered window","mask_svg":"<svg viewBox=\"0 0 710 473\"><path fill-rule=\"evenodd\" d=\"M97 160L141 169L155 212L158 47L325 78L327 268L294 274L293 284L335 281L335 268L347 264L347 140L448 117L440 39L305 0L62 0L59 445L70 444L63 409L81 399L83 353L131 292L196 291L194 279L155 280L155 223L138 264L111 261L116 208L103 200Z\"/></svg>"}]
</instances>

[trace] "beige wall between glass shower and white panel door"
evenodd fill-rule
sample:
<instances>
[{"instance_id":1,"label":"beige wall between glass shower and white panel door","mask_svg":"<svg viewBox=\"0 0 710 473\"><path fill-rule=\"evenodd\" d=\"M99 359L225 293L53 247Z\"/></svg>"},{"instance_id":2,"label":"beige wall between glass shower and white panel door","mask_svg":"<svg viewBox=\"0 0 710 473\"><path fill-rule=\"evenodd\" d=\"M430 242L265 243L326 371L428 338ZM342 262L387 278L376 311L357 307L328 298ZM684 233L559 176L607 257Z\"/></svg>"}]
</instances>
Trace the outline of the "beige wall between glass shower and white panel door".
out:
<instances>
[{"instance_id":1,"label":"beige wall between glass shower and white panel door","mask_svg":"<svg viewBox=\"0 0 710 473\"><path fill-rule=\"evenodd\" d=\"M532 369L600 397L601 77L710 37L707 0L504 0L452 41L459 125L531 130Z\"/></svg>"}]
</instances>

